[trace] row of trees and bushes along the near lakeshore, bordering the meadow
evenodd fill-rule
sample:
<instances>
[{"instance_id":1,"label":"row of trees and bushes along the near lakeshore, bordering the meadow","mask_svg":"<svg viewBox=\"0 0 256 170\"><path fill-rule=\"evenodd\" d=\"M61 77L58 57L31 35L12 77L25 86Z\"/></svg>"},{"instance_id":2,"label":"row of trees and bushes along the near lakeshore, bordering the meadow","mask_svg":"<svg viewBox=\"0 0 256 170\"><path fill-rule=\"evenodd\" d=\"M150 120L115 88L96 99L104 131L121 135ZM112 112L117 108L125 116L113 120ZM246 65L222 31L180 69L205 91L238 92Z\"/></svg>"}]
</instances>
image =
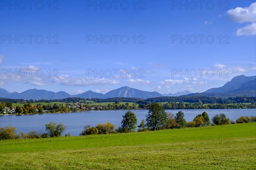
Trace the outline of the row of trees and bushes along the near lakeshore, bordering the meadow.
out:
<instances>
[{"instance_id":1,"label":"row of trees and bushes along the near lakeshore, bordering the meadow","mask_svg":"<svg viewBox=\"0 0 256 170\"><path fill-rule=\"evenodd\" d=\"M213 116L211 122L207 112L205 111L198 114L191 122L186 122L182 111L178 111L176 115L174 115L171 112L166 112L163 105L160 103L151 103L148 105L148 114L146 115L146 119L143 119L138 126L137 117L132 111L127 111L125 115L122 115L122 117L121 126L117 128L116 125L113 125L110 122L103 124L100 123L96 127L85 125L80 136L109 133L131 133L135 132L136 127L138 127L138 132L144 132L148 130L153 131L256 122L256 116L241 116L236 120L236 122L234 122L227 118L224 113L219 113ZM62 123L57 124L55 122L49 122L49 124L45 125L45 132L43 130L40 132L31 130L28 133L22 132L18 134L15 127L0 127L0 140L60 137L66 128L67 126L64 126ZM65 136L71 136L71 134L67 133Z\"/></svg>"}]
</instances>

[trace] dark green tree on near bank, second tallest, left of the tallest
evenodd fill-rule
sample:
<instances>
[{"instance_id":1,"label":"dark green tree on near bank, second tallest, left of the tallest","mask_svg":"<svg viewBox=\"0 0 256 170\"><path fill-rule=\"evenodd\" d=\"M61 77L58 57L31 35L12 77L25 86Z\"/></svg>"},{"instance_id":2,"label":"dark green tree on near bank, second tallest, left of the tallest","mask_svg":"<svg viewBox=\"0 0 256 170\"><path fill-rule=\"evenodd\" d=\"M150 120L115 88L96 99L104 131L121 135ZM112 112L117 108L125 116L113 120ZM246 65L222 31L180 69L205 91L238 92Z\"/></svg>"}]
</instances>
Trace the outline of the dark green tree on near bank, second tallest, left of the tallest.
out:
<instances>
[{"instance_id":1,"label":"dark green tree on near bank, second tallest, left of the tallest","mask_svg":"<svg viewBox=\"0 0 256 170\"><path fill-rule=\"evenodd\" d=\"M137 117L133 112L127 111L122 117L122 132L131 132L136 129Z\"/></svg>"}]
</instances>

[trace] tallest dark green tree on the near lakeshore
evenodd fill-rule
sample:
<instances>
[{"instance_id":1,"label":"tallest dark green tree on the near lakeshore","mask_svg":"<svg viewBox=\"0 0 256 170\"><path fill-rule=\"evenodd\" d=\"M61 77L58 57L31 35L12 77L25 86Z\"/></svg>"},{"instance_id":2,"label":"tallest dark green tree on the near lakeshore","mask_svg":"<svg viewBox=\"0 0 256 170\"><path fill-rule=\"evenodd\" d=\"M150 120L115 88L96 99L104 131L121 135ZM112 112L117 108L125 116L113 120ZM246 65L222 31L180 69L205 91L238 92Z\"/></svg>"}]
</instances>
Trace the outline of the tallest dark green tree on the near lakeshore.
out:
<instances>
[{"instance_id":1,"label":"tallest dark green tree on the near lakeshore","mask_svg":"<svg viewBox=\"0 0 256 170\"><path fill-rule=\"evenodd\" d=\"M167 114L160 103L148 105L148 114L146 115L146 126L150 130L160 130L166 125Z\"/></svg>"}]
</instances>

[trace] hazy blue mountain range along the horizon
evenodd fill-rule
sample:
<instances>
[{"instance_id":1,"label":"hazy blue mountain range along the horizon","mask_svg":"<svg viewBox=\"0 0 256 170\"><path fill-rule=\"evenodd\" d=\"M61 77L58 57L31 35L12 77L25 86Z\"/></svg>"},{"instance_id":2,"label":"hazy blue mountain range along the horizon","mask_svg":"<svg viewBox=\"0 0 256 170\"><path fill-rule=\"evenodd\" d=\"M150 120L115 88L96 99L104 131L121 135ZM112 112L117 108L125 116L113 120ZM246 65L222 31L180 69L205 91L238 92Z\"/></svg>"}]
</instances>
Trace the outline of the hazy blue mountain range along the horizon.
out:
<instances>
[{"instance_id":1,"label":"hazy blue mountain range along the horizon","mask_svg":"<svg viewBox=\"0 0 256 170\"><path fill-rule=\"evenodd\" d=\"M244 75L234 77L230 82L219 88L211 88L202 93L192 93L190 91L177 92L175 94L160 94L156 91L142 91L136 88L127 86L109 91L106 94L86 91L77 95L70 95L64 91L57 93L46 90L29 89L21 93L10 93L3 88L0 88L0 97L9 99L64 99L68 97L80 97L85 99L100 98L107 99L112 97L133 97L133 98L153 98L160 96L213 96L213 97L235 97L235 96L256 96L256 76L246 77Z\"/></svg>"}]
</instances>

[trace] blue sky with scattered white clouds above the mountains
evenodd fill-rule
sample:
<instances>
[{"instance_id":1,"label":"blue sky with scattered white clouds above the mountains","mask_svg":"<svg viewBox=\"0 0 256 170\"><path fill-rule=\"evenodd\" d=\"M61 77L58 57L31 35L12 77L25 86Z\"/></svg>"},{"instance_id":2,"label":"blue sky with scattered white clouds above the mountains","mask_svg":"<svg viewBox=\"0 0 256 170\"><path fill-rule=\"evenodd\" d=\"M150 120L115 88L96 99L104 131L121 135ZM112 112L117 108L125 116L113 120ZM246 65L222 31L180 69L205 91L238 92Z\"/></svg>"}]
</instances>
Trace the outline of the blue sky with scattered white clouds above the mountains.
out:
<instances>
[{"instance_id":1,"label":"blue sky with scattered white clouds above the mountains","mask_svg":"<svg viewBox=\"0 0 256 170\"><path fill-rule=\"evenodd\" d=\"M0 1L0 9L0 86L10 92L195 93L256 75L252 0Z\"/></svg>"}]
</instances>

